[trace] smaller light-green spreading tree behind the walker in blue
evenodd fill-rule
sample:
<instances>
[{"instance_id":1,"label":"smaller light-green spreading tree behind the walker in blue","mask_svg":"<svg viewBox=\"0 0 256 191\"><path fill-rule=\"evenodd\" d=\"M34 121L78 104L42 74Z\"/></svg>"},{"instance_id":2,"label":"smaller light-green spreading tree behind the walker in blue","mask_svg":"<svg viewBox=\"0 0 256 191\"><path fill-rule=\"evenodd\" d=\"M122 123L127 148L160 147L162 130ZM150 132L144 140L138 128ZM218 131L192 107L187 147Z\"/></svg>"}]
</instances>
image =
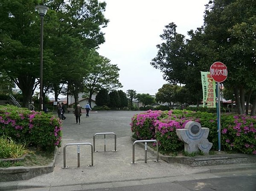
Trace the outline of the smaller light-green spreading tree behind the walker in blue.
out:
<instances>
[{"instance_id":1,"label":"smaller light-green spreading tree behind the walker in blue","mask_svg":"<svg viewBox=\"0 0 256 191\"><path fill-rule=\"evenodd\" d=\"M104 88L108 91L111 89L121 88L119 82L119 68L111 64L108 58L102 57L95 50L91 51L87 61L90 63L90 72L84 77L85 91L89 92L89 103L92 95Z\"/></svg>"}]
</instances>

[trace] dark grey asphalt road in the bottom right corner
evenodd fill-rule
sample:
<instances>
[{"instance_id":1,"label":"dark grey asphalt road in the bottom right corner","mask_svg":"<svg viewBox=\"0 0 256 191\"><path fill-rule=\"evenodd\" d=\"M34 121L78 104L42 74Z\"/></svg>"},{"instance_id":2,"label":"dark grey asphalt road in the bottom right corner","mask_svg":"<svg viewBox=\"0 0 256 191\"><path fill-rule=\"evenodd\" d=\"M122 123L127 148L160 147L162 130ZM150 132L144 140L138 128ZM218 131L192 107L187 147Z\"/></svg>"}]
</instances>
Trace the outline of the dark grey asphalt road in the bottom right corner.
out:
<instances>
[{"instance_id":1,"label":"dark grey asphalt road in the bottom right corner","mask_svg":"<svg viewBox=\"0 0 256 191\"><path fill-rule=\"evenodd\" d=\"M93 189L93 191L256 191L256 175L249 173L249 175L234 176L230 174L229 177L100 188Z\"/></svg>"}]
</instances>

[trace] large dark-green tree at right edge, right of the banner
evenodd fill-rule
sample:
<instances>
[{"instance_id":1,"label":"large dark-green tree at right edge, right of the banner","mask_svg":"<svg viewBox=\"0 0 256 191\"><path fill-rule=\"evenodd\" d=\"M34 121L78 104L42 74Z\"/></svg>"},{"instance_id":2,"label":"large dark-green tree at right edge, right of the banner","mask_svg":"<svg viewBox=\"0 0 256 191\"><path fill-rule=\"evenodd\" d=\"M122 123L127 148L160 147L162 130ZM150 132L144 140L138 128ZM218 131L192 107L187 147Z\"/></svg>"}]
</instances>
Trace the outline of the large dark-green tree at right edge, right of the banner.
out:
<instances>
[{"instance_id":1,"label":"large dark-green tree at right edge, right of the banner","mask_svg":"<svg viewBox=\"0 0 256 191\"><path fill-rule=\"evenodd\" d=\"M207 5L204 19L206 39L215 43L218 60L228 68L224 87L233 88L239 114L245 111L245 97L255 100L251 97L256 91L255 10L254 1L215 0Z\"/></svg>"}]
</instances>

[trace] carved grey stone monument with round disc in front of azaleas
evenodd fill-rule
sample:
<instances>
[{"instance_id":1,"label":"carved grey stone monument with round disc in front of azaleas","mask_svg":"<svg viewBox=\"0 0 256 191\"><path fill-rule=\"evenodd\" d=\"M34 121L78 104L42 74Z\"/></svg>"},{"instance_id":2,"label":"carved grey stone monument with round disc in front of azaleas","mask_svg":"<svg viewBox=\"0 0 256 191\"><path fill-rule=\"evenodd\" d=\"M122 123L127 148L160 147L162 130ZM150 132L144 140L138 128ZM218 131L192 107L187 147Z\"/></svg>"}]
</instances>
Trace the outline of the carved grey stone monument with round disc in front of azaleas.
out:
<instances>
[{"instance_id":1,"label":"carved grey stone monument with round disc in front of azaleas","mask_svg":"<svg viewBox=\"0 0 256 191\"><path fill-rule=\"evenodd\" d=\"M212 143L207 140L209 128L201 127L201 124L195 121L186 123L185 128L176 129L177 136L185 143L185 151L188 153L203 151L209 154Z\"/></svg>"}]
</instances>

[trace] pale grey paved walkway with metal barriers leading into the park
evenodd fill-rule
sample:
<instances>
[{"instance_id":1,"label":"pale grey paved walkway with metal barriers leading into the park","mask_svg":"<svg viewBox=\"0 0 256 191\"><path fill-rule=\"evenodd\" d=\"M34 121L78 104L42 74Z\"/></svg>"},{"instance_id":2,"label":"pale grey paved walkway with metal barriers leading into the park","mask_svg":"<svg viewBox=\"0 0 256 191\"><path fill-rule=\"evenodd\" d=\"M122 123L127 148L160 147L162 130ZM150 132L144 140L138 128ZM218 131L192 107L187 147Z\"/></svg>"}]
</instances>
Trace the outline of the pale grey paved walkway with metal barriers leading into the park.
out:
<instances>
[{"instance_id":1,"label":"pale grey paved walkway with metal barriers leading into the park","mask_svg":"<svg viewBox=\"0 0 256 191\"><path fill-rule=\"evenodd\" d=\"M182 164L170 164L164 161L154 162L156 156L147 153L144 162L144 148L135 146L135 161L132 162L131 117L139 111L98 111L90 112L90 117L81 117L81 125L76 124L73 114L65 114L63 120L62 147L58 150L55 169L30 180L0 182L0 188L16 185L27 191L77 191L93 188L113 188L145 183L172 182L175 180L194 180L217 177L215 174L200 175L209 172L207 167L189 167ZM113 135L106 135L104 151L103 135L96 136L96 150L91 165L90 145L80 145L80 167L78 168L77 146L66 147L66 165L64 166L64 145L67 143L92 143L93 135L101 132L114 132L117 136L117 151L114 150ZM197 175L195 175L197 174ZM30 188L30 189L29 189ZM0 189L1 190L1 189Z\"/></svg>"}]
</instances>

